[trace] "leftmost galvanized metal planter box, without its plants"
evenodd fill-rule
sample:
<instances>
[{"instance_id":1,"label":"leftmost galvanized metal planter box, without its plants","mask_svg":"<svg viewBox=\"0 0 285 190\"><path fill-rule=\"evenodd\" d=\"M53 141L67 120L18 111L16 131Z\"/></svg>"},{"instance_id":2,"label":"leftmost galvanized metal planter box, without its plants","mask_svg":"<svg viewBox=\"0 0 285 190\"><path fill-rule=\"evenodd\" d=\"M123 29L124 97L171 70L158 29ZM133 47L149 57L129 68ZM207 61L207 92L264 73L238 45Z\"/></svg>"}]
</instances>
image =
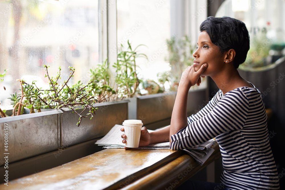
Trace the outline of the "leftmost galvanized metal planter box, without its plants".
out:
<instances>
[{"instance_id":1,"label":"leftmost galvanized metal planter box, without its plants","mask_svg":"<svg viewBox=\"0 0 285 190\"><path fill-rule=\"evenodd\" d=\"M28 109L25 110L28 112ZM7 111L9 115L9 111ZM0 118L0 152L9 153L9 163L57 150L61 110ZM8 126L8 151L4 150L4 128ZM5 162L0 160L0 166Z\"/></svg>"}]
</instances>

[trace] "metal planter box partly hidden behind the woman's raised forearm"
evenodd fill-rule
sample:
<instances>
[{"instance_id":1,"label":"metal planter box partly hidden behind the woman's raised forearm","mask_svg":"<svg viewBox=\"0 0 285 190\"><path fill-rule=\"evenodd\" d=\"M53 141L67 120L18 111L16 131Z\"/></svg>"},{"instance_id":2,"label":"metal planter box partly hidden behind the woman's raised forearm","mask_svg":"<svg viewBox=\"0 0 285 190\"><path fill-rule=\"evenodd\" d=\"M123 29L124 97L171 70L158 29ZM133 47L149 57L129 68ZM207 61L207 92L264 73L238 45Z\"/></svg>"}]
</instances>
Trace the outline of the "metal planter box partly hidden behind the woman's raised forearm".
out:
<instances>
[{"instance_id":1,"label":"metal planter box partly hidden behind the woman's raised forearm","mask_svg":"<svg viewBox=\"0 0 285 190\"><path fill-rule=\"evenodd\" d=\"M177 92L130 98L129 119L139 119L144 125L170 119ZM192 115L205 104L206 89L189 91L187 113ZM206 105L206 104L205 104Z\"/></svg>"}]
</instances>

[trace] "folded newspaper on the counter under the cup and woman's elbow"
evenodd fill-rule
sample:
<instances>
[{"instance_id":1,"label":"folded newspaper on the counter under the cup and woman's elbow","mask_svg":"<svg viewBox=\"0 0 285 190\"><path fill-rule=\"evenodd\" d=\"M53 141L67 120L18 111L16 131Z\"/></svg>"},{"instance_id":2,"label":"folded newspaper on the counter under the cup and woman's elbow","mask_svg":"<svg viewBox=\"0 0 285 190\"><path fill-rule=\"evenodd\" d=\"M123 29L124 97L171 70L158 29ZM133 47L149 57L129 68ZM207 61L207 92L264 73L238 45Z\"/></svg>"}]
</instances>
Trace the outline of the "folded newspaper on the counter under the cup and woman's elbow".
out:
<instances>
[{"instance_id":1,"label":"folded newspaper on the counter under the cup and woman's elbow","mask_svg":"<svg viewBox=\"0 0 285 190\"><path fill-rule=\"evenodd\" d=\"M104 146L103 148L124 148L125 144L122 142L121 138L121 128L123 125L115 125L113 128L100 140L97 140L95 144ZM148 130L151 131L151 130ZM214 149L211 148L216 141L214 139L208 140L203 144L199 144L189 149L184 149L188 152L193 158L202 166L205 161L211 156L214 152ZM156 144L150 144L148 146L139 147L137 149L170 149L169 142L162 142Z\"/></svg>"}]
</instances>

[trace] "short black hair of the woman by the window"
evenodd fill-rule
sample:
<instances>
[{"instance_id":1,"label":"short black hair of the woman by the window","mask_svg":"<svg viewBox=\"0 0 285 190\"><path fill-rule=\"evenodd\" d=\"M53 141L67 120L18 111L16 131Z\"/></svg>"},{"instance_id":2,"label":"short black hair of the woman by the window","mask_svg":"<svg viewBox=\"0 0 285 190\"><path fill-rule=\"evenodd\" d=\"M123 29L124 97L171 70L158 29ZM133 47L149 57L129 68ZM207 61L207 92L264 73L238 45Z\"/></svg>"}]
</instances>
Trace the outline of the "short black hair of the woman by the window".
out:
<instances>
[{"instance_id":1,"label":"short black hair of the woman by the window","mask_svg":"<svg viewBox=\"0 0 285 190\"><path fill-rule=\"evenodd\" d=\"M208 17L201 24L200 31L207 32L222 54L230 49L235 50L235 68L245 62L249 51L249 32L245 23L231 17Z\"/></svg>"}]
</instances>

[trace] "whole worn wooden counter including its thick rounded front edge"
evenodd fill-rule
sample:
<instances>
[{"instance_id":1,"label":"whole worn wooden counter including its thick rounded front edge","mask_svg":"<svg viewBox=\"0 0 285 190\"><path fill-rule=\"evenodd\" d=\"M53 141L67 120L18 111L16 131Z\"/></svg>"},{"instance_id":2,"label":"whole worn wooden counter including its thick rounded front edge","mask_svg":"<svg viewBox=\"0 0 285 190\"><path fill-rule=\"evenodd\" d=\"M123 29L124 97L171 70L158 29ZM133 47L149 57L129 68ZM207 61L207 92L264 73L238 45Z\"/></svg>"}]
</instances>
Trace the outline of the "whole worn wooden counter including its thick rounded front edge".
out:
<instances>
[{"instance_id":1,"label":"whole worn wooden counter including its thick rounded front edge","mask_svg":"<svg viewBox=\"0 0 285 190\"><path fill-rule=\"evenodd\" d=\"M201 167L184 151L108 148L13 181L0 189L164 189L220 158L219 145Z\"/></svg>"}]
</instances>

